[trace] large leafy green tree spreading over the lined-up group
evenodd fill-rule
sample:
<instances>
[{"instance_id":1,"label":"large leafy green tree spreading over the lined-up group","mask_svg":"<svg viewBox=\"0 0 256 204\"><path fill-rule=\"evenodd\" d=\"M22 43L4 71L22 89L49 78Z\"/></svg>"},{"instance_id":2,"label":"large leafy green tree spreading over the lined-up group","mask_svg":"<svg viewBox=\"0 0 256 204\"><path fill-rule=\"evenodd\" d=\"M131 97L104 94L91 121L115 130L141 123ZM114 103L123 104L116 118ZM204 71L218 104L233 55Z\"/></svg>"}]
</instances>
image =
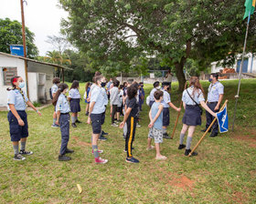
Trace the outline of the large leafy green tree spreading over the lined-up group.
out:
<instances>
[{"instance_id":1,"label":"large leafy green tree spreading over the lined-up group","mask_svg":"<svg viewBox=\"0 0 256 204\"><path fill-rule=\"evenodd\" d=\"M176 67L179 89L187 58L207 66L240 51L245 33L240 0L59 0L69 12L63 32L98 66L150 55ZM251 27L250 36L255 34ZM251 23L251 25L253 25ZM255 35L254 35L255 36ZM253 40L252 40L253 41ZM250 41L251 42L251 41ZM255 41L254 41L255 42Z\"/></svg>"}]
</instances>

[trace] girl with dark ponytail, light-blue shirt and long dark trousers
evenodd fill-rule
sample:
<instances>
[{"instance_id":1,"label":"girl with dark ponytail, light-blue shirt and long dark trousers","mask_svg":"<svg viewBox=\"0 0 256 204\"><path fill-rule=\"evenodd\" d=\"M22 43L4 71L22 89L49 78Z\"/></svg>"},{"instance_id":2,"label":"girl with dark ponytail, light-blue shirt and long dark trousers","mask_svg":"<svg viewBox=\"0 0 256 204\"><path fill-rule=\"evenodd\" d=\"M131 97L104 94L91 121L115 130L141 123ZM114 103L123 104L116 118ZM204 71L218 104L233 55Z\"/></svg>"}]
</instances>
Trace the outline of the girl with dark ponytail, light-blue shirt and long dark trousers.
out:
<instances>
[{"instance_id":1,"label":"girl with dark ponytail, light-blue shirt and long dark trousers","mask_svg":"<svg viewBox=\"0 0 256 204\"><path fill-rule=\"evenodd\" d=\"M61 83L59 89L52 100L52 104L56 107L57 121L56 124L60 126L61 132L61 146L59 150L59 161L68 161L71 158L67 157L67 153L73 153L74 151L68 148L69 143L69 102L65 94L69 90L68 85Z\"/></svg>"}]
</instances>

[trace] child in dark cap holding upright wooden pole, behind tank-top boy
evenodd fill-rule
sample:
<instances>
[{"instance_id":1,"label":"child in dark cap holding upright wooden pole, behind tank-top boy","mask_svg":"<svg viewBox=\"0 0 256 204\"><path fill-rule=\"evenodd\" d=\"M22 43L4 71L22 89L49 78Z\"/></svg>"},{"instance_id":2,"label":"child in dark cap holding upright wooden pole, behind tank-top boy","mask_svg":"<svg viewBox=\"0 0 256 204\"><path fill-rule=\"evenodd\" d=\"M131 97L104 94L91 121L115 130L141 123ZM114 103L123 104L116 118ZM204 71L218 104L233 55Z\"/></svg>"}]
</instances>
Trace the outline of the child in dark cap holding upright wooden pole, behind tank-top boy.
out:
<instances>
[{"instance_id":1,"label":"child in dark cap holding upright wooden pole, behind tank-top boy","mask_svg":"<svg viewBox=\"0 0 256 204\"><path fill-rule=\"evenodd\" d=\"M164 138L170 139L171 137L168 136L166 132L167 126L170 124L170 113L169 113L169 107L174 108L176 111L180 111L180 108L176 107L172 102L171 102L171 97L170 94L167 92L167 90L170 87L169 82L163 82L162 83L162 91L164 92L164 97L162 104L164 105L164 110L163 110L163 134Z\"/></svg>"}]
</instances>

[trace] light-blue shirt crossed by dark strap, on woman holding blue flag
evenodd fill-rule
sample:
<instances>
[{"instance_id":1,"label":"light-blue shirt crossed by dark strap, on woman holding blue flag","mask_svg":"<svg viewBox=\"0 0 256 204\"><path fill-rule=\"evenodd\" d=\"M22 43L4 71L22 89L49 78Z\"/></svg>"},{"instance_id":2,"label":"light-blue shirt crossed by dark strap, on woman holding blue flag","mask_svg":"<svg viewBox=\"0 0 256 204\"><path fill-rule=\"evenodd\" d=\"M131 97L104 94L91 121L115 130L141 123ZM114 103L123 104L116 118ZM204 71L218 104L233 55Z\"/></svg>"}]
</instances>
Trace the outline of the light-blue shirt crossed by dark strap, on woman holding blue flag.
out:
<instances>
[{"instance_id":1,"label":"light-blue shirt crossed by dark strap, on woman holding blue flag","mask_svg":"<svg viewBox=\"0 0 256 204\"><path fill-rule=\"evenodd\" d=\"M194 94L193 94L193 90L194 90L194 86L191 86L183 91L182 101L185 102L185 104L195 106L197 104L200 104L201 101L205 101L205 97L201 89L195 90ZM193 99L197 102L197 104L191 99L191 97L189 97L187 92L191 97L193 97Z\"/></svg>"}]
</instances>

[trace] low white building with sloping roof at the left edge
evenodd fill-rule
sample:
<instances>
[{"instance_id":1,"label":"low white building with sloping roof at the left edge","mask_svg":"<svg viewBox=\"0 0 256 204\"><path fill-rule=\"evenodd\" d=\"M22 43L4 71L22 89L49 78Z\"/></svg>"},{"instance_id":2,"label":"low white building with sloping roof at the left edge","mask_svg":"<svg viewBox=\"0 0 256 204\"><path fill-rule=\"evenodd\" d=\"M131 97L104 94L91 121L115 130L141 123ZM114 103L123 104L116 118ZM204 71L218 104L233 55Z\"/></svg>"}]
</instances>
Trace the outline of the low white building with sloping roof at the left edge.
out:
<instances>
[{"instance_id":1,"label":"low white building with sloping roof at the left edge","mask_svg":"<svg viewBox=\"0 0 256 204\"><path fill-rule=\"evenodd\" d=\"M64 81L64 69L68 69L64 66L38 62L23 56L13 56L0 52L0 107L7 106L6 88L12 87L11 77L21 76L26 82L25 60L27 60L27 82L30 101L46 103L50 100L49 88L52 86L52 79L57 68L62 70Z\"/></svg>"}]
</instances>

